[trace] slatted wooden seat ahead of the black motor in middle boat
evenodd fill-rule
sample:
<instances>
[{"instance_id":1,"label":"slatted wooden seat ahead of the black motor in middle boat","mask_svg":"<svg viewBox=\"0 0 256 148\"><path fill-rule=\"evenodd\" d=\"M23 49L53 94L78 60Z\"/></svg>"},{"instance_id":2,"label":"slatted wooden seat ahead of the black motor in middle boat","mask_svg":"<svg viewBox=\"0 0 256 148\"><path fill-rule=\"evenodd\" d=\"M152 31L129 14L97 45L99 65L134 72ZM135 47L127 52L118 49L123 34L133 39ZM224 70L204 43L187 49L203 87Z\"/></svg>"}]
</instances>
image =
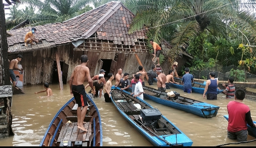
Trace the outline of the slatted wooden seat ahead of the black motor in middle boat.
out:
<instances>
[{"instance_id":1,"label":"slatted wooden seat ahead of the black motor in middle boat","mask_svg":"<svg viewBox=\"0 0 256 148\"><path fill-rule=\"evenodd\" d=\"M140 114L140 109L133 105L133 102L117 102L119 108L127 115Z\"/></svg>"}]
</instances>

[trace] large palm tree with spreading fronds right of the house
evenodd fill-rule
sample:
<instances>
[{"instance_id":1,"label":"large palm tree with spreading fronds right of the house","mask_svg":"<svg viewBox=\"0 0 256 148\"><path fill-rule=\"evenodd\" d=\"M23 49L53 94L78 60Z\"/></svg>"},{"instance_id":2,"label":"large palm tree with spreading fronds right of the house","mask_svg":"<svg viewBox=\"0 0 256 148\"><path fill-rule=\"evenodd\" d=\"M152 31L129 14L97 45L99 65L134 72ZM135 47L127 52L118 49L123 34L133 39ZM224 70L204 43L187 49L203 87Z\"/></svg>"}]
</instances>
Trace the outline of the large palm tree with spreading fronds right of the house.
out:
<instances>
[{"instance_id":1,"label":"large palm tree with spreading fronds right of the house","mask_svg":"<svg viewBox=\"0 0 256 148\"><path fill-rule=\"evenodd\" d=\"M130 32L146 28L148 37L157 42L165 39L174 46L169 50L170 63L190 41L197 41L194 55L203 56L203 33L228 37L226 30L246 27L256 41L255 18L248 12L255 8L255 0L130 0L126 6L136 15ZM236 30L228 23L236 24Z\"/></svg>"}]
</instances>

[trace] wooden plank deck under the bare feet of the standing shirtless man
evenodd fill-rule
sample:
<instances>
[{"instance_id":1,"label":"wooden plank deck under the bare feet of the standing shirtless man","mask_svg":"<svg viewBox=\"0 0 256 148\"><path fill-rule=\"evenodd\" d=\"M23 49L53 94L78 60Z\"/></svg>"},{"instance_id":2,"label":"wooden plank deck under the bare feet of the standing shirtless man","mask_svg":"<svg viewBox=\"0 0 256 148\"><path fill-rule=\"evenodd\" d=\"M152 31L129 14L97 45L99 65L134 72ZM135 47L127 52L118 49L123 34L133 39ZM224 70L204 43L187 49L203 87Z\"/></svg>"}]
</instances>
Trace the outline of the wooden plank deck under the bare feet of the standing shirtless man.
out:
<instances>
[{"instance_id":1,"label":"wooden plank deck under the bare feet of the standing shirtless man","mask_svg":"<svg viewBox=\"0 0 256 148\"><path fill-rule=\"evenodd\" d=\"M57 143L60 144L63 141L70 141L74 146L75 141L82 141L82 146L89 146L89 137L92 135L92 124L91 122L84 124L88 132L78 129L77 122L63 124Z\"/></svg>"}]
</instances>

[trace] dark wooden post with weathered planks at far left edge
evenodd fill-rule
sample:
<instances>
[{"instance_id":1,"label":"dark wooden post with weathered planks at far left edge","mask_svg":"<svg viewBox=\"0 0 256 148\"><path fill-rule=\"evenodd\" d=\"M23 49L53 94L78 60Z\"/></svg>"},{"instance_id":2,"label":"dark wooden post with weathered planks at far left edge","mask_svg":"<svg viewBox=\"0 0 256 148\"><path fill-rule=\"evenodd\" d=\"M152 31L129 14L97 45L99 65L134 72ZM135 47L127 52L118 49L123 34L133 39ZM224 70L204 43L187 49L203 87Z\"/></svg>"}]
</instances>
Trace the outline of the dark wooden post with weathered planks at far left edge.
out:
<instances>
[{"instance_id":1,"label":"dark wooden post with weathered planks at far left edge","mask_svg":"<svg viewBox=\"0 0 256 148\"><path fill-rule=\"evenodd\" d=\"M12 130L12 85L10 82L8 45L5 28L4 4L0 0L0 138L14 135Z\"/></svg>"}]
</instances>

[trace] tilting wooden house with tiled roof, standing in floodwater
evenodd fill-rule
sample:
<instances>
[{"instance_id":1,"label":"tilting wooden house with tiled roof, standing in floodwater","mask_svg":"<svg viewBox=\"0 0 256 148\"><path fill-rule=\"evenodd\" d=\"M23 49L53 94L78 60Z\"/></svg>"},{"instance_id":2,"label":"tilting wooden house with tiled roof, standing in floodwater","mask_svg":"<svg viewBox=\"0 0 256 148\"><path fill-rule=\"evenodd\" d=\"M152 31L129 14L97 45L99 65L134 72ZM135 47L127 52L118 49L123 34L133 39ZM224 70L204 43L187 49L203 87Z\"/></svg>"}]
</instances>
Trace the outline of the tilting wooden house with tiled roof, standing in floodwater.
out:
<instances>
[{"instance_id":1,"label":"tilting wooden house with tiled roof, standing in floodwater","mask_svg":"<svg viewBox=\"0 0 256 148\"><path fill-rule=\"evenodd\" d=\"M109 72L116 74L119 68L135 73L139 66L136 56L148 71L153 62L146 49L145 32L128 34L133 17L121 2L111 1L62 23L35 26L36 38L42 43L28 47L24 46L24 38L31 27L10 30L8 32L14 36L7 39L11 51L9 59L23 55L24 85L58 80L61 84L62 76L66 83L84 54L89 59L87 66L91 77L100 69L106 71L105 77Z\"/></svg>"}]
</instances>

